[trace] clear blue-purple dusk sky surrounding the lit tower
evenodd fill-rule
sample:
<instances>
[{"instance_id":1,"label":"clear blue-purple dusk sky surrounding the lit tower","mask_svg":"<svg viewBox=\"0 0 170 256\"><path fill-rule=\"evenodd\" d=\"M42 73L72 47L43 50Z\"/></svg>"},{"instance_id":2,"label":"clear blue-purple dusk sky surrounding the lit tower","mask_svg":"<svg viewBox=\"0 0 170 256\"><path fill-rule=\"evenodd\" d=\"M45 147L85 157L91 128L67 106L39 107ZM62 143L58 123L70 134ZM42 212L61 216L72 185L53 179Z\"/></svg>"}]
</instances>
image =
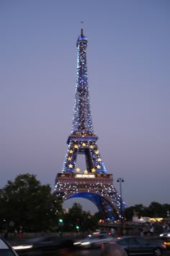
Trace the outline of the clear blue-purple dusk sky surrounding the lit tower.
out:
<instances>
[{"instance_id":1,"label":"clear blue-purple dusk sky surrounding the lit tower","mask_svg":"<svg viewBox=\"0 0 170 256\"><path fill-rule=\"evenodd\" d=\"M71 134L84 21L89 95L107 172L127 206L170 203L170 1L0 1L0 188L55 185ZM86 211L97 211L88 200Z\"/></svg>"}]
</instances>

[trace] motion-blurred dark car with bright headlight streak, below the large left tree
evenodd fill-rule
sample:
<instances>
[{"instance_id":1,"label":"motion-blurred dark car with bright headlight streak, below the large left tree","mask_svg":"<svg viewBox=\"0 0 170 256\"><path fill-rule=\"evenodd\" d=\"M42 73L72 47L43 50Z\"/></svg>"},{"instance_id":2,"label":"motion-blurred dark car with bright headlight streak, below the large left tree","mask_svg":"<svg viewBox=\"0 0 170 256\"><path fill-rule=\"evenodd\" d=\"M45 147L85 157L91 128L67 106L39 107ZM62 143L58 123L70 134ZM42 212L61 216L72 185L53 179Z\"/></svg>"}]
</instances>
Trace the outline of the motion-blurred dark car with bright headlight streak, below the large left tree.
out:
<instances>
[{"instance_id":1,"label":"motion-blurred dark car with bright headlight streak, below the large left tree","mask_svg":"<svg viewBox=\"0 0 170 256\"><path fill-rule=\"evenodd\" d=\"M12 248L18 255L54 255L61 250L62 237L34 237L26 239L18 244L13 244Z\"/></svg>"}]
</instances>

